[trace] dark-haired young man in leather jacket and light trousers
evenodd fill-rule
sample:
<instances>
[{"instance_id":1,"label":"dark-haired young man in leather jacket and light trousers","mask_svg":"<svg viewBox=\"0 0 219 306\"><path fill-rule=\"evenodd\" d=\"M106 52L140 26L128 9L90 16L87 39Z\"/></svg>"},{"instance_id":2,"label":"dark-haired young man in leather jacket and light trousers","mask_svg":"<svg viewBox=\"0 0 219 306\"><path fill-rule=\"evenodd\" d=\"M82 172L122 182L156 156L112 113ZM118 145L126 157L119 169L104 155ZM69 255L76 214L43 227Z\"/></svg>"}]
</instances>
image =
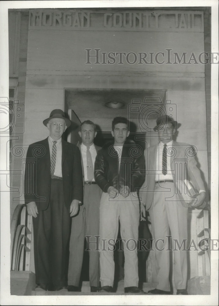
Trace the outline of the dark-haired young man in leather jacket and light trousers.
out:
<instances>
[{"instance_id":1,"label":"dark-haired young man in leather jacket and light trousers","mask_svg":"<svg viewBox=\"0 0 219 306\"><path fill-rule=\"evenodd\" d=\"M100 201L100 292L112 292L114 281L113 250L119 220L124 247L125 293L144 293L138 288L137 241L139 198L144 181L145 162L140 146L126 140L128 120L116 117L112 122L114 143L103 146L95 161L95 181L102 189Z\"/></svg>"}]
</instances>

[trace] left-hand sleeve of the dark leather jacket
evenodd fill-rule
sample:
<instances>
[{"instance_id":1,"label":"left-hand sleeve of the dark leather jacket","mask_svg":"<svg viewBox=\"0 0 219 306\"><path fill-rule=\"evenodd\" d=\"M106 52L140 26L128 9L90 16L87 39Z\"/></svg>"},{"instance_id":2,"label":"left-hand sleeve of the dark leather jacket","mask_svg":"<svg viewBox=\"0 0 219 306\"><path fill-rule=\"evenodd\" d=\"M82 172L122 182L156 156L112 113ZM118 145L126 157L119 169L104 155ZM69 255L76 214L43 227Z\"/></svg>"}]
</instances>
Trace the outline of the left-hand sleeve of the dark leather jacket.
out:
<instances>
[{"instance_id":1,"label":"left-hand sleeve of the dark leather jacket","mask_svg":"<svg viewBox=\"0 0 219 306\"><path fill-rule=\"evenodd\" d=\"M94 166L94 178L97 185L103 192L107 192L111 186L105 177L105 165L102 150L97 152L95 166Z\"/></svg>"}]
</instances>

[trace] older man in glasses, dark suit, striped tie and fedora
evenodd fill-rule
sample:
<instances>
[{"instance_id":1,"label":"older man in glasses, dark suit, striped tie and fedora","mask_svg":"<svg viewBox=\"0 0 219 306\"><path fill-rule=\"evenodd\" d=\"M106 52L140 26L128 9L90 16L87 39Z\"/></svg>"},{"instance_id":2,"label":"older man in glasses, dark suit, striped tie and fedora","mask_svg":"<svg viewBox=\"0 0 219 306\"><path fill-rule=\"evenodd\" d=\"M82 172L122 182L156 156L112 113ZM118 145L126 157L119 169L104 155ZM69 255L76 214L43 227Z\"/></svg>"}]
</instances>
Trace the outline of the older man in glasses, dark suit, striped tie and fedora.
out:
<instances>
[{"instance_id":1,"label":"older man in glasses, dark suit, striped tie and fedora","mask_svg":"<svg viewBox=\"0 0 219 306\"><path fill-rule=\"evenodd\" d=\"M49 136L28 147L24 198L33 217L36 290L56 291L67 285L67 245L71 217L82 202L82 170L78 147L61 138L71 125L64 112L53 110L43 124Z\"/></svg>"}]
</instances>

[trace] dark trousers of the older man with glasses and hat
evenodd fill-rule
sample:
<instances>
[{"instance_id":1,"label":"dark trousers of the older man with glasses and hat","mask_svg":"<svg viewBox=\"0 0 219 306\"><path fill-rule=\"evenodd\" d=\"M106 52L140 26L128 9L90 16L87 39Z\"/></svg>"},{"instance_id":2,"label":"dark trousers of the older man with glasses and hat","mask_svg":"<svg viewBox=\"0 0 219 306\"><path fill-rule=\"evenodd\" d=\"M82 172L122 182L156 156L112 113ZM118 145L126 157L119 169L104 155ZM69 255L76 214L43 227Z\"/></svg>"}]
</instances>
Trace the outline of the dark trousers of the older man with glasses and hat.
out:
<instances>
[{"instance_id":1,"label":"dark trousers of the older man with glasses and hat","mask_svg":"<svg viewBox=\"0 0 219 306\"><path fill-rule=\"evenodd\" d=\"M63 181L51 179L50 202L33 218L36 284L67 284L67 243L70 213L64 203Z\"/></svg>"}]
</instances>

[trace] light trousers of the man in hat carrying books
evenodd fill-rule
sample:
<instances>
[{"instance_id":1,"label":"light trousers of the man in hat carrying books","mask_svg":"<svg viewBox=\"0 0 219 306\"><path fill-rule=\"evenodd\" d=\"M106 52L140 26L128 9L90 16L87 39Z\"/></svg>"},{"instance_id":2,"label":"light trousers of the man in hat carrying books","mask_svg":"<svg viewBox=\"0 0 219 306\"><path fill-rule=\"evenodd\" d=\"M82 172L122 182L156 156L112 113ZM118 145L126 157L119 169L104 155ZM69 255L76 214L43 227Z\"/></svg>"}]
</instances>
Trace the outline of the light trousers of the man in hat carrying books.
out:
<instances>
[{"instance_id":1,"label":"light trousers of the man in hat carrying books","mask_svg":"<svg viewBox=\"0 0 219 306\"><path fill-rule=\"evenodd\" d=\"M169 188L164 191L164 188ZM170 191L169 191L170 190ZM171 197L171 198L170 198ZM169 199L168 199L169 198ZM188 208L182 206L176 195L174 195L174 186L171 182L155 185L153 203L149 209L151 219L152 236L155 241L160 240L158 248L155 248L155 267L157 272L157 289L170 291L169 269L170 256L168 249L169 229L171 231L172 241L176 239L181 245L183 239L187 243L187 213ZM175 242L173 243L173 249ZM183 246L182 246L183 248ZM186 289L187 284L187 252L179 250L176 244L176 250L173 251L174 282L176 289Z\"/></svg>"}]
</instances>

